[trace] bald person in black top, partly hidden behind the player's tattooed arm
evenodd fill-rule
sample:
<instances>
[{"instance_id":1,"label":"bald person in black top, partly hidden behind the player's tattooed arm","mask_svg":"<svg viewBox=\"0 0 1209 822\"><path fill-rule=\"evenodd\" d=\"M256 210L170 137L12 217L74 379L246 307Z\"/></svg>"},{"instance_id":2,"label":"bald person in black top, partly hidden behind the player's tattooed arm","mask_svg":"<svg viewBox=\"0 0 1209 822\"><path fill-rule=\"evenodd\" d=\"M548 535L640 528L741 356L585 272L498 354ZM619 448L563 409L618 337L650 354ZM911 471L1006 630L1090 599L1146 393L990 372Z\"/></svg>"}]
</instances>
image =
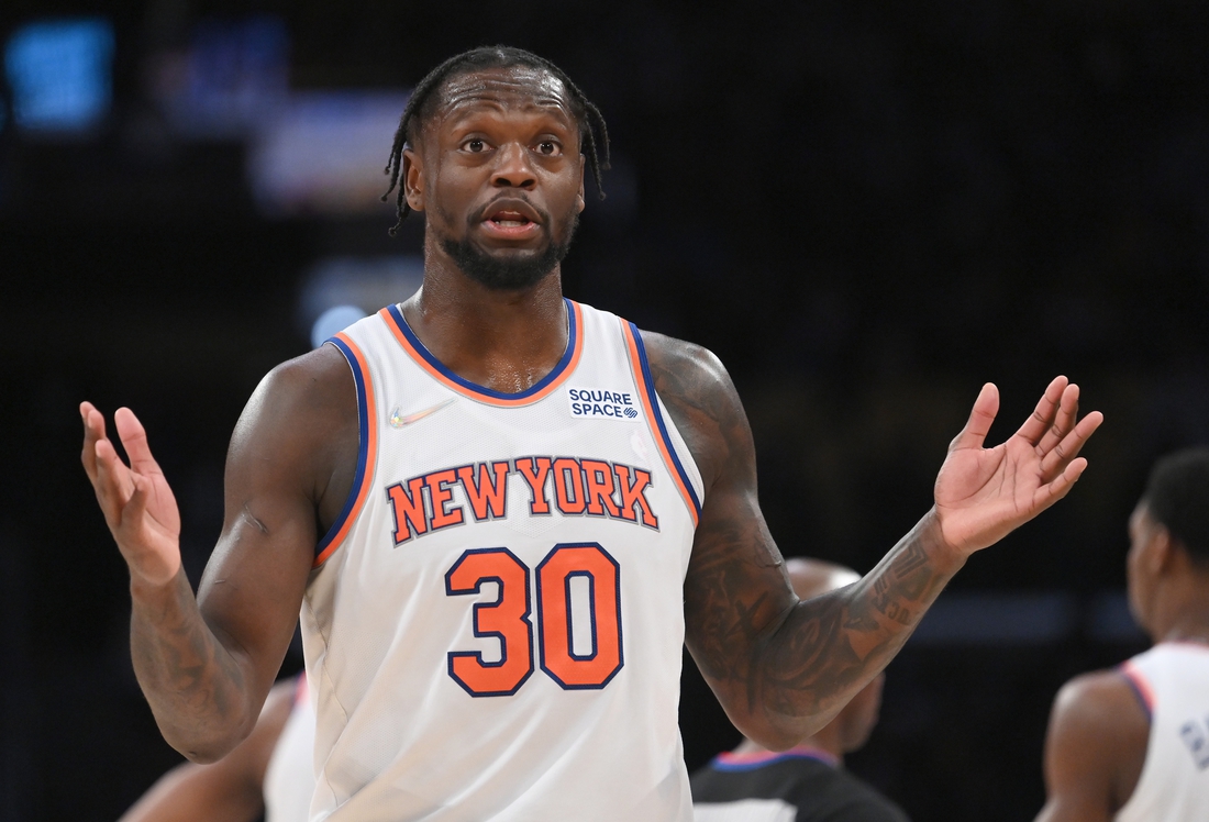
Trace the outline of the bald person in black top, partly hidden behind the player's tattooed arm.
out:
<instances>
[{"instance_id":1,"label":"bald person in black top, partly hidden behind the player's tattooed arm","mask_svg":"<svg viewBox=\"0 0 1209 822\"><path fill-rule=\"evenodd\" d=\"M861 575L818 560L788 560L803 600L851 585ZM907 815L844 770L878 724L885 675L852 697L831 724L782 753L744 740L690 777L695 822L906 822Z\"/></svg>"}]
</instances>

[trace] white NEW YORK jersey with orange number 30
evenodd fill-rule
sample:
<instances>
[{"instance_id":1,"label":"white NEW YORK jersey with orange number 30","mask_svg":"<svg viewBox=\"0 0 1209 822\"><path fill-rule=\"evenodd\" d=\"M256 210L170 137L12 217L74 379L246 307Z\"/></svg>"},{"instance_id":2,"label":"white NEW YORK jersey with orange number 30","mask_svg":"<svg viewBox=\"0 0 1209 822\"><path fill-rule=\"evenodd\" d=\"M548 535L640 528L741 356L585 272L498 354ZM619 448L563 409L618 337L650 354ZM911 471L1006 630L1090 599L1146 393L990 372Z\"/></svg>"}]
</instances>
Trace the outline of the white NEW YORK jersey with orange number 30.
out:
<instances>
[{"instance_id":1,"label":"white NEW YORK jersey with orange number 30","mask_svg":"<svg viewBox=\"0 0 1209 822\"><path fill-rule=\"evenodd\" d=\"M631 324L566 301L528 390L384 308L332 343L361 453L302 606L312 818L692 820L677 705L701 479Z\"/></svg>"}]
</instances>

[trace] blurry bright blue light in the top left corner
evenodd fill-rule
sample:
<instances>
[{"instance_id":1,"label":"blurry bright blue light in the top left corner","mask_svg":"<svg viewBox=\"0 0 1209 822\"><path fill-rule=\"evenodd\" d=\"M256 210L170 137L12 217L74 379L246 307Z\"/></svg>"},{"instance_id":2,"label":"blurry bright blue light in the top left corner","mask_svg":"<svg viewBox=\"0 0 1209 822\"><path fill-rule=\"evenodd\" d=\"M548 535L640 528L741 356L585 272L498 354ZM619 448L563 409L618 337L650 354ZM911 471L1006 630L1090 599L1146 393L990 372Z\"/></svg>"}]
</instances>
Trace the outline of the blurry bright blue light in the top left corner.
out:
<instances>
[{"instance_id":1,"label":"blurry bright blue light in the top left corner","mask_svg":"<svg viewBox=\"0 0 1209 822\"><path fill-rule=\"evenodd\" d=\"M102 18L40 21L5 47L13 122L42 132L86 132L112 100L114 27Z\"/></svg>"}]
</instances>

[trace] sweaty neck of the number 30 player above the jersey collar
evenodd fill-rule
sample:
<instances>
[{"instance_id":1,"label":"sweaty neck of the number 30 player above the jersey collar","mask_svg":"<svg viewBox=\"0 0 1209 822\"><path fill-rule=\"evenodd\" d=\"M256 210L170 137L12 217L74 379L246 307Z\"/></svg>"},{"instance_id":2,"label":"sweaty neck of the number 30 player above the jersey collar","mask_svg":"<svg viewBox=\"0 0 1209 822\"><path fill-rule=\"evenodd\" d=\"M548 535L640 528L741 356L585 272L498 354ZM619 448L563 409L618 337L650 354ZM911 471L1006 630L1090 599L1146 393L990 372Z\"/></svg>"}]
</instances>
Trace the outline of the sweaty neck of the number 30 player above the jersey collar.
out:
<instances>
[{"instance_id":1,"label":"sweaty neck of the number 30 player above the jersey collar","mask_svg":"<svg viewBox=\"0 0 1209 822\"><path fill-rule=\"evenodd\" d=\"M559 267L526 289L492 289L444 254L426 255L424 284L403 306L424 347L464 380L504 393L531 388L567 348Z\"/></svg>"}]
</instances>

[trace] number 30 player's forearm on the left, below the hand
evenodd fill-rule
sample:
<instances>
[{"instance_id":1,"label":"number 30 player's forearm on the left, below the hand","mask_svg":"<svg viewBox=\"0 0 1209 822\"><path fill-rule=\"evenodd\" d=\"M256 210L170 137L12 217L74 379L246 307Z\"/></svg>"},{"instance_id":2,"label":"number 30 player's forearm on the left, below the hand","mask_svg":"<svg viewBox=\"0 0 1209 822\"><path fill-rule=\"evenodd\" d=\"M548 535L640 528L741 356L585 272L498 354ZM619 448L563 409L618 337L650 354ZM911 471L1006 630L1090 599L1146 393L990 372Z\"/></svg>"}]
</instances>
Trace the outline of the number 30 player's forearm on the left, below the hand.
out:
<instances>
[{"instance_id":1,"label":"number 30 player's forearm on the left, below the hand","mask_svg":"<svg viewBox=\"0 0 1209 822\"><path fill-rule=\"evenodd\" d=\"M193 762L225 756L251 730L245 676L202 619L184 571L131 581L131 658L164 740Z\"/></svg>"}]
</instances>

